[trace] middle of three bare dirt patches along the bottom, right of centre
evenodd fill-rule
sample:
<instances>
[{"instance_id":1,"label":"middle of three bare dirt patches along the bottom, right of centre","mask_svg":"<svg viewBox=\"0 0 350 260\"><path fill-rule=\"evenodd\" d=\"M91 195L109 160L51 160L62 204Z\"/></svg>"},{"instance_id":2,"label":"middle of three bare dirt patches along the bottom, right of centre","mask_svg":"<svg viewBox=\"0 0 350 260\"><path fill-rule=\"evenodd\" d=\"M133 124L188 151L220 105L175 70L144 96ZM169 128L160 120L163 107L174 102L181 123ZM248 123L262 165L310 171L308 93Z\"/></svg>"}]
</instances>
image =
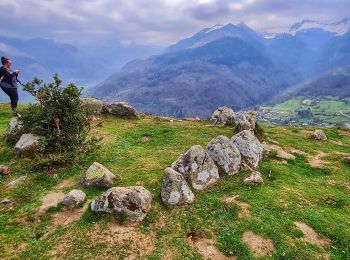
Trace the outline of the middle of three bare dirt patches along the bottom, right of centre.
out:
<instances>
[{"instance_id":1,"label":"middle of three bare dirt patches along the bottom, right of centre","mask_svg":"<svg viewBox=\"0 0 350 260\"><path fill-rule=\"evenodd\" d=\"M258 236L252 231L244 232L242 239L248 244L250 250L256 257L272 256L273 252L275 251L275 247L271 239Z\"/></svg>"}]
</instances>

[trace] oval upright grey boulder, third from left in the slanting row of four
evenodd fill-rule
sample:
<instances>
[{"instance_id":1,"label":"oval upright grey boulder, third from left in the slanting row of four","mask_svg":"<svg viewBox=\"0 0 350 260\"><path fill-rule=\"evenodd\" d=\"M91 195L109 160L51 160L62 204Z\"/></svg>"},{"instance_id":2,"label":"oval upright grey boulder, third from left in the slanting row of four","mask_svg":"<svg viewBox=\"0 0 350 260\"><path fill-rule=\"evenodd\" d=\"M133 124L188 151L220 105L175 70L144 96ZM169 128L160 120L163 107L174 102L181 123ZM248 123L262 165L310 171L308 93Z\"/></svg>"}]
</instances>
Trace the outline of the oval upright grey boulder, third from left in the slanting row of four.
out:
<instances>
[{"instance_id":1,"label":"oval upright grey boulder, third from left in the slanting row of four","mask_svg":"<svg viewBox=\"0 0 350 260\"><path fill-rule=\"evenodd\" d=\"M237 173L241 166L241 154L231 140L223 135L215 137L206 148L219 171L228 175Z\"/></svg>"}]
</instances>

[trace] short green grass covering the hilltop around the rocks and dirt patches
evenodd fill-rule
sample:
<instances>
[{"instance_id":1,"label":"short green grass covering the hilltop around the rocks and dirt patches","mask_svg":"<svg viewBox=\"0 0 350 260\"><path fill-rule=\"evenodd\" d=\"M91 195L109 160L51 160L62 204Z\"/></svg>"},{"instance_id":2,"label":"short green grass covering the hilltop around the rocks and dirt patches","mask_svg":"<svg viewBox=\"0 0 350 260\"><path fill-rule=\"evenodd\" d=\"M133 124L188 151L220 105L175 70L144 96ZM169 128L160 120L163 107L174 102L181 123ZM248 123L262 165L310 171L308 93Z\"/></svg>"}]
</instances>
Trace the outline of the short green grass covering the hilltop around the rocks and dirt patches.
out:
<instances>
[{"instance_id":1,"label":"short green grass covering the hilltop around the rocks and dirt patches","mask_svg":"<svg viewBox=\"0 0 350 260\"><path fill-rule=\"evenodd\" d=\"M0 105L0 116L3 134L11 116L8 106ZM136 227L140 234L154 236L154 248L144 258L161 259L170 252L175 259L200 259L186 240L186 235L195 231L215 239L216 247L227 256L253 259L249 247L242 242L242 234L247 230L272 239L273 259L317 259L324 254L332 259L350 258L350 168L338 154L350 153L350 137L344 135L350 134L349 131L324 129L330 140L316 142L301 128L264 126L267 141L278 141L284 148L294 147L310 156L318 151L327 153L326 168L311 168L306 156L301 155L288 164L264 159L260 164L263 186L244 186L243 180L249 173L241 172L222 178L205 192L195 192L194 204L168 210L160 201L163 170L190 146L205 146L217 135L231 137L233 129L208 127L207 122L168 122L151 117L135 121L107 116L104 121L103 128L91 132L93 136L103 137L100 145L80 164L67 168L38 171L36 166L40 161L18 159L11 147L1 143L0 164L11 166L14 173L0 179L0 200L10 198L16 206L0 207L0 259L48 259L52 254L60 259L123 259L134 250L130 243L107 240L102 231L108 233L112 219L96 216L90 209L80 220L58 227L48 235L53 215L62 211L62 207L51 208L40 223L35 219L43 195L63 180L80 180L94 161L118 176L116 185L141 183L151 191L152 209ZM145 136L149 138L147 142L143 140ZM28 176L23 186L4 189L6 183L22 175ZM82 188L78 184L72 188L82 189L89 200L105 190ZM239 219L238 206L222 201L224 196L231 195L239 195L240 200L251 206L251 218ZM159 224L160 219L163 225ZM116 221L126 225L122 216ZM320 249L304 242L294 221L305 222L331 239L332 246ZM102 232L98 235L91 234L96 224Z\"/></svg>"}]
</instances>

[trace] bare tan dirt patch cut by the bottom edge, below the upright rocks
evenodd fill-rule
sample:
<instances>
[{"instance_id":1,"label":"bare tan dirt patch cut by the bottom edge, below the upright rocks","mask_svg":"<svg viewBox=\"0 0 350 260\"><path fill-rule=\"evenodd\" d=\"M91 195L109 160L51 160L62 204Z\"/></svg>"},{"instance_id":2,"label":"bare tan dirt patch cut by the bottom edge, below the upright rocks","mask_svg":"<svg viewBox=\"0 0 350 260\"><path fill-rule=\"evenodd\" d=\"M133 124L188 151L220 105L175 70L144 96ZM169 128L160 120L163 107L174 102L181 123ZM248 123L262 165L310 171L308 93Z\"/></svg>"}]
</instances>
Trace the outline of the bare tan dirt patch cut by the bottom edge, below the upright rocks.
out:
<instances>
[{"instance_id":1,"label":"bare tan dirt patch cut by the bottom edge, below the upright rocks","mask_svg":"<svg viewBox=\"0 0 350 260\"><path fill-rule=\"evenodd\" d=\"M188 236L188 243L197 250L197 252L203 257L203 259L211 260L226 260L237 259L235 256L225 256L215 247L215 242L212 239L201 238L197 236Z\"/></svg>"}]
</instances>

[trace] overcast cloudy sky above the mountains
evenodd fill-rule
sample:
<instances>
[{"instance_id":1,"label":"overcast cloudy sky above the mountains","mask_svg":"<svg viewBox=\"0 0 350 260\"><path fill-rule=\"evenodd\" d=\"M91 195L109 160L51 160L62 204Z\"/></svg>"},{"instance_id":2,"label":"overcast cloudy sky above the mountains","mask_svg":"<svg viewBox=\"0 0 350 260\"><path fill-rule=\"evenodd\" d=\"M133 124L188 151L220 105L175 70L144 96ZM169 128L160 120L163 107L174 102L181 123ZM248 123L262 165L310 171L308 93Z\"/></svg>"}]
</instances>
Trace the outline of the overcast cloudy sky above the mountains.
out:
<instances>
[{"instance_id":1,"label":"overcast cloudy sky above the mountains","mask_svg":"<svg viewBox=\"0 0 350 260\"><path fill-rule=\"evenodd\" d=\"M350 0L1 0L0 35L166 46L215 24L256 30L350 16Z\"/></svg>"}]
</instances>

